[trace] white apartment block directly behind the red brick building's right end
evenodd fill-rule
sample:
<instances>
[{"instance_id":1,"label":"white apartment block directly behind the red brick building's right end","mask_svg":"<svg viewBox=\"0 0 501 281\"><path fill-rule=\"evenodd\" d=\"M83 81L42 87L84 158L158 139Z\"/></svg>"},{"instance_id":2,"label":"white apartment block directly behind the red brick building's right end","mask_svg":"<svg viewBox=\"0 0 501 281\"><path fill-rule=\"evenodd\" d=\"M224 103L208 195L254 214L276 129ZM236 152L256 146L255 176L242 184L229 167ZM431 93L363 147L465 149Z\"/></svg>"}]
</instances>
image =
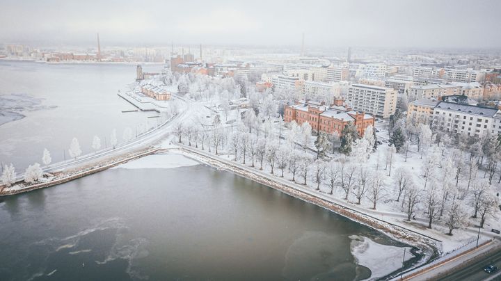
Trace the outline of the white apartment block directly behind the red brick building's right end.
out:
<instances>
[{"instance_id":1,"label":"white apartment block directly behind the red brick building's right end","mask_svg":"<svg viewBox=\"0 0 501 281\"><path fill-rule=\"evenodd\" d=\"M381 118L390 118L397 109L397 90L379 86L353 84L349 87L347 104Z\"/></svg>"}]
</instances>

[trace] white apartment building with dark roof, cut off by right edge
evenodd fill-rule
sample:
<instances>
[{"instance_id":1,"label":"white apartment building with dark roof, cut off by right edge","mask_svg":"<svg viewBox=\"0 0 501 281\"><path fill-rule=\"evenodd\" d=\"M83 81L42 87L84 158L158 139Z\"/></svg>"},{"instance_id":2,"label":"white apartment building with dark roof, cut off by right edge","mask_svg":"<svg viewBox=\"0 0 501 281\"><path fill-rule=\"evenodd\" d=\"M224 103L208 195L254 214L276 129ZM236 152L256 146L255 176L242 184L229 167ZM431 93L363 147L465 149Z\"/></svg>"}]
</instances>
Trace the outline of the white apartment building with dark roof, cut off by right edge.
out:
<instances>
[{"instance_id":1,"label":"white apartment building with dark roof, cut off by right edge","mask_svg":"<svg viewBox=\"0 0 501 281\"><path fill-rule=\"evenodd\" d=\"M501 132L501 111L484 106L440 102L434 108L434 126L444 131L481 137Z\"/></svg>"}]
</instances>

